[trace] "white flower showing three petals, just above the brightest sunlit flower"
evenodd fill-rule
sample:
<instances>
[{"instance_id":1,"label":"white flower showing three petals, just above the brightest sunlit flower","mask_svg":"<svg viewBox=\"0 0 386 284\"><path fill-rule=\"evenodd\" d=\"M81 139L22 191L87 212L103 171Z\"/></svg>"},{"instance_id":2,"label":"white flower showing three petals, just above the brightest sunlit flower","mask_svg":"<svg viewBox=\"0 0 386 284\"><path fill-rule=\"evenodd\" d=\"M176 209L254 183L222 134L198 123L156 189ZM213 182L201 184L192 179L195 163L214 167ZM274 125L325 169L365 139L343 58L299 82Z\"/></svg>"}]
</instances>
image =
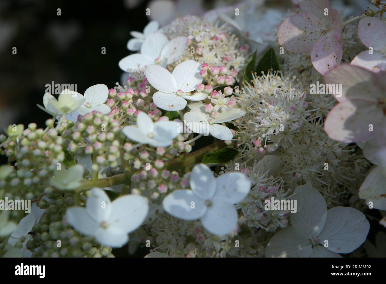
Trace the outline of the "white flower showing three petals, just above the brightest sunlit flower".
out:
<instances>
[{"instance_id":1,"label":"white flower showing three petals, just above the brightest sunlit flower","mask_svg":"<svg viewBox=\"0 0 386 284\"><path fill-rule=\"evenodd\" d=\"M158 64L165 67L176 61L185 51L188 38L179 36L171 41L161 32L153 32L146 36L141 46L141 53L131 54L119 61L123 71L145 68L147 65Z\"/></svg>"}]
</instances>

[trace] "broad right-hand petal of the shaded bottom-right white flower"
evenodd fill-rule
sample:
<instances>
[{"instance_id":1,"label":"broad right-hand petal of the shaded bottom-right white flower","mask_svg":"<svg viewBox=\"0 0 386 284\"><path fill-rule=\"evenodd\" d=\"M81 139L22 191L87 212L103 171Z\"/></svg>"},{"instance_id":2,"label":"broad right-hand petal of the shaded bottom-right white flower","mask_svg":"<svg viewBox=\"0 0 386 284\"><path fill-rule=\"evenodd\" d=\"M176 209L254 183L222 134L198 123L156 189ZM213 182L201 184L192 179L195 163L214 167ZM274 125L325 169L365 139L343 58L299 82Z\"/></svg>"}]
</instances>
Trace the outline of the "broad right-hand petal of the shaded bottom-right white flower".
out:
<instances>
[{"instance_id":1,"label":"broad right-hand petal of the shaded bottom-right white flower","mask_svg":"<svg viewBox=\"0 0 386 284\"><path fill-rule=\"evenodd\" d=\"M364 214L352 207L334 207L327 211L327 221L318 236L320 244L328 240L328 249L349 253L366 240L370 224Z\"/></svg>"}]
</instances>

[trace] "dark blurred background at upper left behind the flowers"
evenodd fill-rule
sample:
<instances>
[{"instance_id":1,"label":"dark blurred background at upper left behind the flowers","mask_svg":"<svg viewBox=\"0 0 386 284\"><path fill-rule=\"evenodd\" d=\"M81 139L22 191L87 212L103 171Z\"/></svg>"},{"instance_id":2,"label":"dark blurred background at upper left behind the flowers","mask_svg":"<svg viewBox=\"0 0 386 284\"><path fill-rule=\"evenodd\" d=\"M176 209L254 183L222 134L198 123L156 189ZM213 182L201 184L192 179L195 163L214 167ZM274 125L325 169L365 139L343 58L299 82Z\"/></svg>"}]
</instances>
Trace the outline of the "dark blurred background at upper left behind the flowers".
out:
<instances>
[{"instance_id":1,"label":"dark blurred background at upper left behind the flowers","mask_svg":"<svg viewBox=\"0 0 386 284\"><path fill-rule=\"evenodd\" d=\"M36 104L52 81L77 84L81 94L98 83L114 87L122 73L118 62L129 55L129 32L142 32L148 22L146 5L129 10L123 0L1 0L0 129L30 122L43 127L49 115Z\"/></svg>"}]
</instances>

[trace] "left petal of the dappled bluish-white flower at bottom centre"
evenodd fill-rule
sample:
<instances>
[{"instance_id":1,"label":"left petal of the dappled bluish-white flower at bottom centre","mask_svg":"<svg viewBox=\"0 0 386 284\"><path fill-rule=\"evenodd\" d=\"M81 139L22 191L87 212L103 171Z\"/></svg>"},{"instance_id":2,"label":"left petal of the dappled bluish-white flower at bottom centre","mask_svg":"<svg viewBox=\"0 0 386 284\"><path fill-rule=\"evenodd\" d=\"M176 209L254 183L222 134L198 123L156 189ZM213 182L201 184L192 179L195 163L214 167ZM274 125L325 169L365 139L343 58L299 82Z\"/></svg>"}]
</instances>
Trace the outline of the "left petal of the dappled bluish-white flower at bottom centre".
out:
<instances>
[{"instance_id":1,"label":"left petal of the dappled bluish-white flower at bottom centre","mask_svg":"<svg viewBox=\"0 0 386 284\"><path fill-rule=\"evenodd\" d=\"M204 201L191 190L175 190L162 202L166 212L184 220L195 220L206 211Z\"/></svg>"}]
</instances>

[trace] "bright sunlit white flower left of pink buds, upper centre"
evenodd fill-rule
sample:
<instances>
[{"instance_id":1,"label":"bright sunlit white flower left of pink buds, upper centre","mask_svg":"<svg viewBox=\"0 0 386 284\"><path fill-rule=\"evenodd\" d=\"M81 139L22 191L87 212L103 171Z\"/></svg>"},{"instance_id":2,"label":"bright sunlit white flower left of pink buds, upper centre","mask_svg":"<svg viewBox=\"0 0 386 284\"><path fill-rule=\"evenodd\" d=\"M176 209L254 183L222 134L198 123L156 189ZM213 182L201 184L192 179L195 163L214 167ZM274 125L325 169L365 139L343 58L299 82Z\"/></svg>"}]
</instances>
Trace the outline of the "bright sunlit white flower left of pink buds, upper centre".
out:
<instances>
[{"instance_id":1,"label":"bright sunlit white flower left of pink buds, upper centre","mask_svg":"<svg viewBox=\"0 0 386 284\"><path fill-rule=\"evenodd\" d=\"M158 65L147 66L147 81L159 91L153 95L154 104L166 111L179 111L186 106L186 100L206 99L208 94L204 92L190 94L202 82L200 66L194 60L186 60L179 63L173 73Z\"/></svg>"}]
</instances>

